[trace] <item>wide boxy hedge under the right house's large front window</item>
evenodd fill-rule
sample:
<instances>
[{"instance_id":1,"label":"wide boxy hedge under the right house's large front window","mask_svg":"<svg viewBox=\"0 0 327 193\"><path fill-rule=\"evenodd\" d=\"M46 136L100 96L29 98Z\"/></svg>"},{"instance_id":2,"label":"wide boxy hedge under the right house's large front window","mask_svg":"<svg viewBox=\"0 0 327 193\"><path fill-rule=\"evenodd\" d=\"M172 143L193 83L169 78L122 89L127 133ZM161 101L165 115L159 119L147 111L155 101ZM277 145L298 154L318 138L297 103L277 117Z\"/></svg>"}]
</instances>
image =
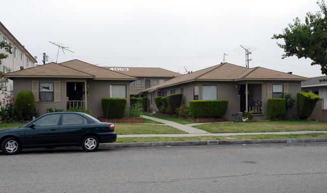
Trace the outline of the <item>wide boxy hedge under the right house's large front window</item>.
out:
<instances>
[{"instance_id":1,"label":"wide boxy hedge under the right house's large front window","mask_svg":"<svg viewBox=\"0 0 327 193\"><path fill-rule=\"evenodd\" d=\"M226 100L196 100L190 101L191 116L194 118L222 117L226 114Z\"/></svg>"}]
</instances>

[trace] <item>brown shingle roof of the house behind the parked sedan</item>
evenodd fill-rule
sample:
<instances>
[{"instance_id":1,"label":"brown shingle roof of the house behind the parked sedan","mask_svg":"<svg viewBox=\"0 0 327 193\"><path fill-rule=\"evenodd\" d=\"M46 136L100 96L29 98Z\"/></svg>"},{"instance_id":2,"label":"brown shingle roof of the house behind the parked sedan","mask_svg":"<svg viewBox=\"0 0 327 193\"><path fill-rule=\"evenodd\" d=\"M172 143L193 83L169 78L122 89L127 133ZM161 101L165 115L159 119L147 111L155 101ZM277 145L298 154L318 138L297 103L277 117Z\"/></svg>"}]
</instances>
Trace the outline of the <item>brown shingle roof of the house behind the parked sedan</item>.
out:
<instances>
[{"instance_id":1,"label":"brown shingle roof of the house behind the parked sedan","mask_svg":"<svg viewBox=\"0 0 327 193\"><path fill-rule=\"evenodd\" d=\"M136 78L126 74L107 70L79 60L71 60L60 64L48 63L38 67L8 73L6 74L6 77L67 77L106 80L136 80Z\"/></svg>"}]
</instances>

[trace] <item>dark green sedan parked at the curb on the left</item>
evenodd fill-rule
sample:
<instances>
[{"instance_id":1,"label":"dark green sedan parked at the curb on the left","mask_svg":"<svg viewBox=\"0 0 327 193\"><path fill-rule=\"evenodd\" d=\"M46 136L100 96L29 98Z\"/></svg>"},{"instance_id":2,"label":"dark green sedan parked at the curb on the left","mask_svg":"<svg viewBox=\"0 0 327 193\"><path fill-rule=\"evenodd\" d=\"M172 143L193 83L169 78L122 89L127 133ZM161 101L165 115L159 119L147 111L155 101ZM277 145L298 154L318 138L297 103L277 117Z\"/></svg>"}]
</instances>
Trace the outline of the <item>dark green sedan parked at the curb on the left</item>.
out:
<instances>
[{"instance_id":1,"label":"dark green sedan parked at the curb on the left","mask_svg":"<svg viewBox=\"0 0 327 193\"><path fill-rule=\"evenodd\" d=\"M1 150L16 154L23 148L81 146L96 151L99 143L116 141L113 123L78 112L56 112L42 115L22 127L0 130Z\"/></svg>"}]
</instances>

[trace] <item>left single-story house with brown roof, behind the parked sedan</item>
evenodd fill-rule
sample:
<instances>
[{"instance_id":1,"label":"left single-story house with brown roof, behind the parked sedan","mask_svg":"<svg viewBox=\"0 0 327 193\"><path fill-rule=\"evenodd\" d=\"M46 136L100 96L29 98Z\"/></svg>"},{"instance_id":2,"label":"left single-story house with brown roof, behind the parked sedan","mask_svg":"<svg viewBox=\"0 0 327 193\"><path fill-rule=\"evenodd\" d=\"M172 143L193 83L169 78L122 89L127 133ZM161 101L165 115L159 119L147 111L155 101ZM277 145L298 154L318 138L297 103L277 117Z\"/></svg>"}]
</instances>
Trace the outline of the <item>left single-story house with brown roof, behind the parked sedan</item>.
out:
<instances>
[{"instance_id":1,"label":"left single-story house with brown roof, behind the parked sedan","mask_svg":"<svg viewBox=\"0 0 327 193\"><path fill-rule=\"evenodd\" d=\"M94 117L103 116L101 98L126 98L128 109L129 85L136 80L79 60L48 63L6 76L14 81L14 98L22 90L32 91L36 109L41 115L48 108L66 110L79 106L89 109Z\"/></svg>"}]
</instances>

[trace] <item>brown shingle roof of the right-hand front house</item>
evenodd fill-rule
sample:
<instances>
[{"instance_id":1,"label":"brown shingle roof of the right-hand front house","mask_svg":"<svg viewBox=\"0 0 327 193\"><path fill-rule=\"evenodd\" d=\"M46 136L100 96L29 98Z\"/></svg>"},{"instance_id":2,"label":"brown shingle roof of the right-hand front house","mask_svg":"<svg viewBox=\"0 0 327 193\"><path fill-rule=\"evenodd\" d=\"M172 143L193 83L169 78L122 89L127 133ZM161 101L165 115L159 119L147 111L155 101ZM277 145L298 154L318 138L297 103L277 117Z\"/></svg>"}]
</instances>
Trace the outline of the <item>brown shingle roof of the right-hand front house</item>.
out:
<instances>
[{"instance_id":1,"label":"brown shingle roof of the right-hand front house","mask_svg":"<svg viewBox=\"0 0 327 193\"><path fill-rule=\"evenodd\" d=\"M190 74L168 80L142 92L153 92L160 88L192 81L243 81L243 80L297 80L307 81L309 78L278 72L262 67L245 68L234 64L223 63L202 69Z\"/></svg>"}]
</instances>

